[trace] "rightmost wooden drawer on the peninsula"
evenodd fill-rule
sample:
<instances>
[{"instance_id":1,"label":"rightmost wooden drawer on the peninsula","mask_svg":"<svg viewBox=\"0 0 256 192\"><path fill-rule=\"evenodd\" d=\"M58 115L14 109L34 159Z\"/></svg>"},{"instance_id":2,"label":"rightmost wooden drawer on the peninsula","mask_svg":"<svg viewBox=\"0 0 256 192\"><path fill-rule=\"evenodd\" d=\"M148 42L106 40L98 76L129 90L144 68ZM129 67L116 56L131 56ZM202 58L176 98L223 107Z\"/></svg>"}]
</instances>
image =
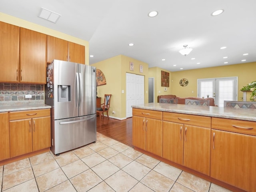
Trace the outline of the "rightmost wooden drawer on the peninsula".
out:
<instances>
[{"instance_id":1,"label":"rightmost wooden drawer on the peninsula","mask_svg":"<svg viewBox=\"0 0 256 192\"><path fill-rule=\"evenodd\" d=\"M256 136L256 122L212 117L212 129Z\"/></svg>"}]
</instances>

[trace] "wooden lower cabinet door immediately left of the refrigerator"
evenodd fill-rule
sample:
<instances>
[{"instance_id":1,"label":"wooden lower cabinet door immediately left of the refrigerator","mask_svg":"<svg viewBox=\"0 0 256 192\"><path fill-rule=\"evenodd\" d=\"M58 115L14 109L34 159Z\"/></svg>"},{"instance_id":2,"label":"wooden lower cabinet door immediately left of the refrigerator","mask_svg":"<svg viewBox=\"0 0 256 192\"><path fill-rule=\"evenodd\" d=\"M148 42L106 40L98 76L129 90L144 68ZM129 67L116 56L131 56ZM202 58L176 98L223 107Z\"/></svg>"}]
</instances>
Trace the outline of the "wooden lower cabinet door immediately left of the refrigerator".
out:
<instances>
[{"instance_id":1,"label":"wooden lower cabinet door immediately left of the refrigerator","mask_svg":"<svg viewBox=\"0 0 256 192\"><path fill-rule=\"evenodd\" d=\"M33 151L51 146L51 117L33 118Z\"/></svg>"}]
</instances>

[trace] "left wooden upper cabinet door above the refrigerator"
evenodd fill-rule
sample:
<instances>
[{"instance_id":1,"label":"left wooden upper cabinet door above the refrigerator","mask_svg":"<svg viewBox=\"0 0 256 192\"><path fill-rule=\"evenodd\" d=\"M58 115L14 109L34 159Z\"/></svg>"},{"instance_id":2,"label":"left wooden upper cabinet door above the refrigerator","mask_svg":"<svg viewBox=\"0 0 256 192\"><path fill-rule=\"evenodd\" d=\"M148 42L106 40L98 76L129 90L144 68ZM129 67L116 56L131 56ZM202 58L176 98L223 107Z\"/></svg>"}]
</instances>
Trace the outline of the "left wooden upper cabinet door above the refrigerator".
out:
<instances>
[{"instance_id":1,"label":"left wooden upper cabinet door above the refrigerator","mask_svg":"<svg viewBox=\"0 0 256 192\"><path fill-rule=\"evenodd\" d=\"M47 62L52 60L68 61L68 41L47 36Z\"/></svg>"}]
</instances>

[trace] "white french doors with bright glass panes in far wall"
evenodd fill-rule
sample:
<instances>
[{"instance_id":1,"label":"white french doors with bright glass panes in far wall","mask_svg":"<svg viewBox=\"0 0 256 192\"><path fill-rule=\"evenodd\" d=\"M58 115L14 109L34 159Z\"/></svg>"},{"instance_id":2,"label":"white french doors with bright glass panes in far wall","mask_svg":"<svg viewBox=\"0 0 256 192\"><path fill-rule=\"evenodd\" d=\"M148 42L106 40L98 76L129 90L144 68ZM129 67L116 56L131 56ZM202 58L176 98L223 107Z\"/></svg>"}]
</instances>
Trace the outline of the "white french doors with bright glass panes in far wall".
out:
<instances>
[{"instance_id":1,"label":"white french doors with bright glass panes in far wall","mask_svg":"<svg viewBox=\"0 0 256 192\"><path fill-rule=\"evenodd\" d=\"M224 100L237 100L237 77L198 79L198 97L212 97L215 104L223 107Z\"/></svg>"}]
</instances>

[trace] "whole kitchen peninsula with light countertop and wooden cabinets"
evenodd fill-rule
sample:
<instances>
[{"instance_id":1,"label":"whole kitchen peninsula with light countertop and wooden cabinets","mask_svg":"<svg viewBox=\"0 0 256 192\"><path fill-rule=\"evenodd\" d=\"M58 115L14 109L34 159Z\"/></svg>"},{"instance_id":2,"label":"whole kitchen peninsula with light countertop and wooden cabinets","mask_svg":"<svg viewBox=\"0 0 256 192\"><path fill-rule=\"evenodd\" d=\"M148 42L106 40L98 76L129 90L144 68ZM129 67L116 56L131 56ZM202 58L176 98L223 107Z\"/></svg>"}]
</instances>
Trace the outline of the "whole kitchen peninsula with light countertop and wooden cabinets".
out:
<instances>
[{"instance_id":1,"label":"whole kitchen peninsula with light countertop and wooden cabinets","mask_svg":"<svg viewBox=\"0 0 256 192\"><path fill-rule=\"evenodd\" d=\"M231 191L256 191L256 109L133 105L132 144Z\"/></svg>"}]
</instances>

